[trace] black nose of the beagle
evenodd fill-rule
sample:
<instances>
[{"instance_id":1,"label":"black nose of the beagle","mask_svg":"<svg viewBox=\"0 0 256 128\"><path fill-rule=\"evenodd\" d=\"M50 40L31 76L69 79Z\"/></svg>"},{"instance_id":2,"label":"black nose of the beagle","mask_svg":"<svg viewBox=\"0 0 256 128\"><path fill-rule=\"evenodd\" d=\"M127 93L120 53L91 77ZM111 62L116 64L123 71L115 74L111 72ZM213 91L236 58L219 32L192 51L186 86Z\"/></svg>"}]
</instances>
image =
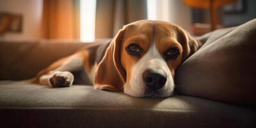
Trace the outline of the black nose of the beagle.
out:
<instances>
[{"instance_id":1,"label":"black nose of the beagle","mask_svg":"<svg viewBox=\"0 0 256 128\"><path fill-rule=\"evenodd\" d=\"M159 88L162 88L166 83L166 76L152 70L146 70L143 73L143 81L148 88L152 90L158 90Z\"/></svg>"}]
</instances>

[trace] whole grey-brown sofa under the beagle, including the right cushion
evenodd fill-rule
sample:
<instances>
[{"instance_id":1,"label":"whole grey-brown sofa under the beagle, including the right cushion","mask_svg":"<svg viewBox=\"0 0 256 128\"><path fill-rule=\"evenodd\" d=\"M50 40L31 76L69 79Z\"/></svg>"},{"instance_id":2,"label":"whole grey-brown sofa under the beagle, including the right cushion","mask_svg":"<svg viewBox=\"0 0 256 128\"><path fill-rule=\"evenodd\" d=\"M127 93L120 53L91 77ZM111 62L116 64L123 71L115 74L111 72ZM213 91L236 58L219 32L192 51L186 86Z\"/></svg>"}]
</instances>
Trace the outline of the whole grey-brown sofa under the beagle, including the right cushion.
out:
<instances>
[{"instance_id":1,"label":"whole grey-brown sofa under the beagle, including the right cushion","mask_svg":"<svg viewBox=\"0 0 256 128\"><path fill-rule=\"evenodd\" d=\"M255 36L252 20L198 37L168 98L31 84L22 80L88 43L0 42L0 127L256 127Z\"/></svg>"}]
</instances>

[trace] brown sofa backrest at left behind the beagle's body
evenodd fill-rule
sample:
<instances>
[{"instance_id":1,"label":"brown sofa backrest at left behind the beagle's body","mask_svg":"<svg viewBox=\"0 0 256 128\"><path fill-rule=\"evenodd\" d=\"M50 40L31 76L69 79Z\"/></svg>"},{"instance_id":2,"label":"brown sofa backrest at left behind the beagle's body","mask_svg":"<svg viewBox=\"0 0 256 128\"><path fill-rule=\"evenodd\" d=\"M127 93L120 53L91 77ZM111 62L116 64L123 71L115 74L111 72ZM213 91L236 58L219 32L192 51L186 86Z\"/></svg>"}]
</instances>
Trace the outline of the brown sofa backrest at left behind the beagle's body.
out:
<instances>
[{"instance_id":1,"label":"brown sofa backrest at left behind the beagle's body","mask_svg":"<svg viewBox=\"0 0 256 128\"><path fill-rule=\"evenodd\" d=\"M102 43L106 40L100 40ZM92 43L81 42L0 42L0 80L35 77L52 62L73 54Z\"/></svg>"}]
</instances>

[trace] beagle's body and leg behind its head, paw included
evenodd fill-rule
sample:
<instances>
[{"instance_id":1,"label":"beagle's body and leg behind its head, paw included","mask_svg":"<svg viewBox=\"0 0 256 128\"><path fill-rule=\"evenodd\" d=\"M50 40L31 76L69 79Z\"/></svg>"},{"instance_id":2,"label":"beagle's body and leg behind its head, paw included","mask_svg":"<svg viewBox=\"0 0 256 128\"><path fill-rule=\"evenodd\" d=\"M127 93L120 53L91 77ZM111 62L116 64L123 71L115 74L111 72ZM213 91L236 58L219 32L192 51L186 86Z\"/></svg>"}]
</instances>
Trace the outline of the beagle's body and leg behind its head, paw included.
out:
<instances>
[{"instance_id":1,"label":"beagle's body and leg behind its head, paw included","mask_svg":"<svg viewBox=\"0 0 256 128\"><path fill-rule=\"evenodd\" d=\"M102 48L99 48L102 47ZM66 58L62 58L49 67L41 70L36 77L26 81L37 83L51 87L71 86L74 81L74 76L71 72L84 69L86 74L93 80L95 65L97 63L97 52L104 53L108 44L92 44L81 49L81 51L72 54ZM98 51L98 48L101 49ZM100 58L100 56L99 56Z\"/></svg>"}]
</instances>

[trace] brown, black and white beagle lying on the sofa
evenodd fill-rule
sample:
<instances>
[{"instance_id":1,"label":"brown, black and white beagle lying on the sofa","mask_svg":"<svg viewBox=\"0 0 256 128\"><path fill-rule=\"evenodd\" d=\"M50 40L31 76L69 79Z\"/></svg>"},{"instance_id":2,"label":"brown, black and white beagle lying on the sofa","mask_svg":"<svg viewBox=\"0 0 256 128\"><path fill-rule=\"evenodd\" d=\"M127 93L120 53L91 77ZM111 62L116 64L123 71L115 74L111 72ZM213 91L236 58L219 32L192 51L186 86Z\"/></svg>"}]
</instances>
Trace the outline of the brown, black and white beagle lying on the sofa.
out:
<instances>
[{"instance_id":1,"label":"brown, black and white beagle lying on the sofa","mask_svg":"<svg viewBox=\"0 0 256 128\"><path fill-rule=\"evenodd\" d=\"M125 25L109 44L95 44L40 71L32 82L53 88L74 82L84 69L95 89L134 97L173 94L175 69L201 43L175 24L139 20Z\"/></svg>"}]
</instances>

